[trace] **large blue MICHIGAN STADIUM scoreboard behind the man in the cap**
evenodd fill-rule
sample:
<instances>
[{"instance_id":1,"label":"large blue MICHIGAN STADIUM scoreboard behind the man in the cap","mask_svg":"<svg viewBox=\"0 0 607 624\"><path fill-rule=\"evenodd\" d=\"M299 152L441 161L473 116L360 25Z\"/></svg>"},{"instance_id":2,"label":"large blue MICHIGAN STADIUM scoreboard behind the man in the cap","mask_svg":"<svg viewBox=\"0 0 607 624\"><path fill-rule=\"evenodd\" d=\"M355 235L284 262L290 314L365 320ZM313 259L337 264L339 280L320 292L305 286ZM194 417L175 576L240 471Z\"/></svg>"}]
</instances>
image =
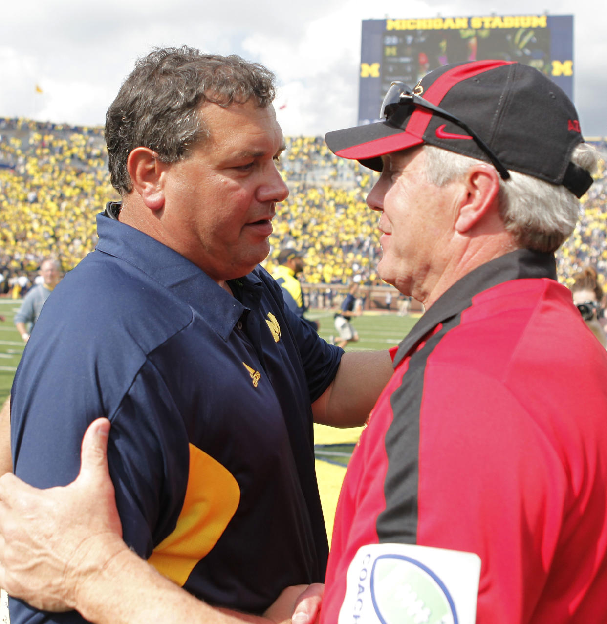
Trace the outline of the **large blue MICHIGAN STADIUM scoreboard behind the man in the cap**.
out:
<instances>
[{"instance_id":1,"label":"large blue MICHIGAN STADIUM scoreboard behind the man in the cap","mask_svg":"<svg viewBox=\"0 0 607 624\"><path fill-rule=\"evenodd\" d=\"M533 66L573 100L572 15L362 21L358 123L377 120L392 80L410 87L447 63L501 59Z\"/></svg>"}]
</instances>

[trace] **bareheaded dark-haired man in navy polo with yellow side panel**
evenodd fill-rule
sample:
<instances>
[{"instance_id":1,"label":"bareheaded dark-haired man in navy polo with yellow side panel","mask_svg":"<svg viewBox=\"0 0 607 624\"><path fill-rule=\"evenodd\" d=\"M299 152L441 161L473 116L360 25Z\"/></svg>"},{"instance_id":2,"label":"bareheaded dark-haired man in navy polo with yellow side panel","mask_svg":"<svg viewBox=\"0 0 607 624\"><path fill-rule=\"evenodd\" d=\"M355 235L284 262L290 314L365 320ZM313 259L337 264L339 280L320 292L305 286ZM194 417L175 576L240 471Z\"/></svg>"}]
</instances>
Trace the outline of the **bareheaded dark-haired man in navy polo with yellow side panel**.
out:
<instances>
[{"instance_id":1,"label":"bareheaded dark-haired man in navy polo with yellow side panel","mask_svg":"<svg viewBox=\"0 0 607 624\"><path fill-rule=\"evenodd\" d=\"M288 196L273 97L271 72L240 57L137 62L105 127L122 201L47 301L11 415L15 474L41 488L74 480L107 417L126 544L207 605L257 615L324 579L313 419L362 424L390 368L319 338L258 266ZM82 621L10 608L13 624Z\"/></svg>"}]
</instances>

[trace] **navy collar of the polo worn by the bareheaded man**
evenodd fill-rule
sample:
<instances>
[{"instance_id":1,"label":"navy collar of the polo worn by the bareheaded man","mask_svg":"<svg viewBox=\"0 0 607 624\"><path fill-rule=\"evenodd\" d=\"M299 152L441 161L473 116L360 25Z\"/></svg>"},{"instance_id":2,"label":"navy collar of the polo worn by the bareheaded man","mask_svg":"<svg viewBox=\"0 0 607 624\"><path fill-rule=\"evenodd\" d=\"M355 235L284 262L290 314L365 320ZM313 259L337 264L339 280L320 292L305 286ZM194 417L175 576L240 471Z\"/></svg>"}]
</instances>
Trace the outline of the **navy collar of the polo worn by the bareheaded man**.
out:
<instances>
[{"instance_id":1,"label":"navy collar of the polo worn by the bareheaded man","mask_svg":"<svg viewBox=\"0 0 607 624\"><path fill-rule=\"evenodd\" d=\"M119 212L120 203L109 202L104 212L97 215L97 250L135 266L168 288L197 311L223 339L227 339L245 306L254 305L260 299L260 278L249 273L238 280L230 280L240 289L243 305L180 253L152 236L120 223L117 220Z\"/></svg>"}]
</instances>

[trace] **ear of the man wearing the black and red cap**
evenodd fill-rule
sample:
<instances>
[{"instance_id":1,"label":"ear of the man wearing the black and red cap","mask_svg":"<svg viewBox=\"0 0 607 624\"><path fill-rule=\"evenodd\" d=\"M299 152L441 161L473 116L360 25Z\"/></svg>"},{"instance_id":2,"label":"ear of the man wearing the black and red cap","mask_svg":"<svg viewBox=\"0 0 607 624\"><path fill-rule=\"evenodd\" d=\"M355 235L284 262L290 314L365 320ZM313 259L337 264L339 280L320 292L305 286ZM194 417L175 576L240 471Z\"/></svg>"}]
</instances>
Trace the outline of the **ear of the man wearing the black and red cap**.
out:
<instances>
[{"instance_id":1,"label":"ear of the man wearing the black and red cap","mask_svg":"<svg viewBox=\"0 0 607 624\"><path fill-rule=\"evenodd\" d=\"M464 178L455 230L460 234L468 232L489 213L497 213L499 190L500 179L495 168L485 164L470 167Z\"/></svg>"}]
</instances>

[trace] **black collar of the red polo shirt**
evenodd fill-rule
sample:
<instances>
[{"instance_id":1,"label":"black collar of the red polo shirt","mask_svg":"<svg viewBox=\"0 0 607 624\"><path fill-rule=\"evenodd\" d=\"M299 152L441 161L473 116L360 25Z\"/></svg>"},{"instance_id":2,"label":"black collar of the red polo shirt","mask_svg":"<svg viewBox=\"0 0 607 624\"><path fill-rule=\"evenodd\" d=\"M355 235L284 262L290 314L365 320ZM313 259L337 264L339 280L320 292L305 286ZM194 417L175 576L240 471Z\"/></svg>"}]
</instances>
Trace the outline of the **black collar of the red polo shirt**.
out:
<instances>
[{"instance_id":1,"label":"black collar of the red polo shirt","mask_svg":"<svg viewBox=\"0 0 607 624\"><path fill-rule=\"evenodd\" d=\"M409 355L419 341L438 324L453 318L469 308L472 298L488 288L505 281L527 278L556 280L556 261L553 253L519 249L495 258L470 271L445 291L415 323L405 336L394 358L394 368Z\"/></svg>"}]
</instances>

